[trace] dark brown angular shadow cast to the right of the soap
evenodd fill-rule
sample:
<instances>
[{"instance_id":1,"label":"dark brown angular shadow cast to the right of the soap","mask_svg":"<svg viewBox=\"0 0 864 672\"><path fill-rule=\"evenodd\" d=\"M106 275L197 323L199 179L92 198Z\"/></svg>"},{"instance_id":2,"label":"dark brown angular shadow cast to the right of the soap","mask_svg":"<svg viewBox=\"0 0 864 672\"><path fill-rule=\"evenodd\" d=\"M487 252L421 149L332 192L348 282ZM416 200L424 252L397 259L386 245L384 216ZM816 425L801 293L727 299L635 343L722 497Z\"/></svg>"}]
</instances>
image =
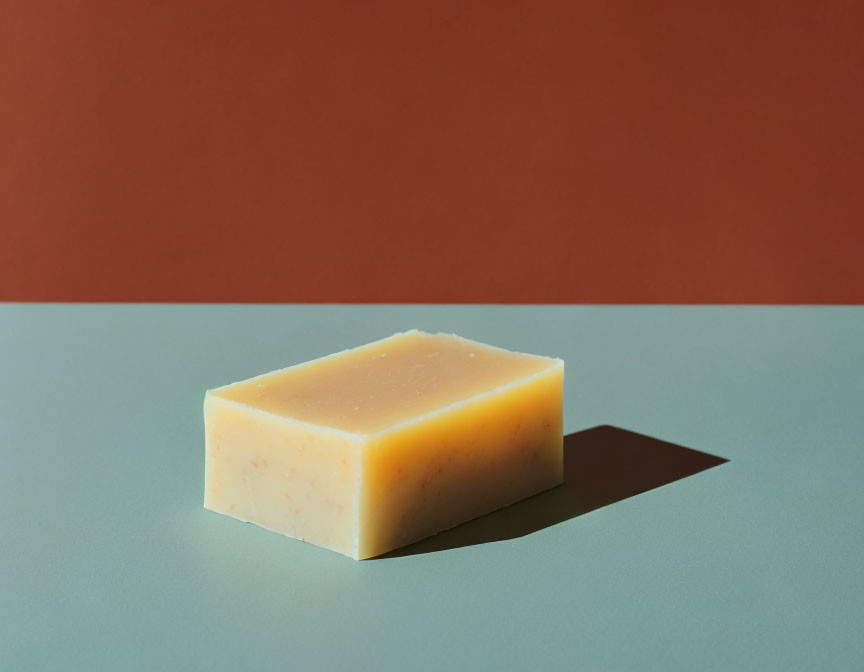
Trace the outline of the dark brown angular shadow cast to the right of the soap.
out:
<instances>
[{"instance_id":1,"label":"dark brown angular shadow cast to the right of the soap","mask_svg":"<svg viewBox=\"0 0 864 672\"><path fill-rule=\"evenodd\" d=\"M432 553L531 534L728 462L609 425L564 437L564 483L380 558Z\"/></svg>"}]
</instances>

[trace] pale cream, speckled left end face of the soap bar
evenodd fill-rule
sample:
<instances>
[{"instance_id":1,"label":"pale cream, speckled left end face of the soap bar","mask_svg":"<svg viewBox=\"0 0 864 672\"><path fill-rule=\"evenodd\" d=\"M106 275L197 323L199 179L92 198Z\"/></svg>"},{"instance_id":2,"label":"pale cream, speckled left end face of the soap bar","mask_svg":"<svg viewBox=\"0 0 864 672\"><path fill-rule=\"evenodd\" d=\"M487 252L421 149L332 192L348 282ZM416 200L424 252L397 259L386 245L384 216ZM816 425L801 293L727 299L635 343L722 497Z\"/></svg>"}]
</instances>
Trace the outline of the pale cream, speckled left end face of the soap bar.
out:
<instances>
[{"instance_id":1,"label":"pale cream, speckled left end face of the soap bar","mask_svg":"<svg viewBox=\"0 0 864 672\"><path fill-rule=\"evenodd\" d=\"M360 437L208 394L204 506L357 556Z\"/></svg>"}]
</instances>

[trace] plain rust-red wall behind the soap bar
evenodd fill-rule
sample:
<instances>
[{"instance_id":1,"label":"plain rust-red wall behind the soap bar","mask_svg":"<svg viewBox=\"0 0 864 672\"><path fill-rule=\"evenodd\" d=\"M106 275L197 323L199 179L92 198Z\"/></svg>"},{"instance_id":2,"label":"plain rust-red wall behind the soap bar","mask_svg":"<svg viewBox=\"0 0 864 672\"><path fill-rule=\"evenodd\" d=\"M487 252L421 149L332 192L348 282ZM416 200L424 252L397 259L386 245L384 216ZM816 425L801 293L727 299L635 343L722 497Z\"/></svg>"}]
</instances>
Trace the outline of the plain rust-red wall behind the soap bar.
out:
<instances>
[{"instance_id":1,"label":"plain rust-red wall behind the soap bar","mask_svg":"<svg viewBox=\"0 0 864 672\"><path fill-rule=\"evenodd\" d=\"M0 300L864 302L864 3L0 0Z\"/></svg>"}]
</instances>

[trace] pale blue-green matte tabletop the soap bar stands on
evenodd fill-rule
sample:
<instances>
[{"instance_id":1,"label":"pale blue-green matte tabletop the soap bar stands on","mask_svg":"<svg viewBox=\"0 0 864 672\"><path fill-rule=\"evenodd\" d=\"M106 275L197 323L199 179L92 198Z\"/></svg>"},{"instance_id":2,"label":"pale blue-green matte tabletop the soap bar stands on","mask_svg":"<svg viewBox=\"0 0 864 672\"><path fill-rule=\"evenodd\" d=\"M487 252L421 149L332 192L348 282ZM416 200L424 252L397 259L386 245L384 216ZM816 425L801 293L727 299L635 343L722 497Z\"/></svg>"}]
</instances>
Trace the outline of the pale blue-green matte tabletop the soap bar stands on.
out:
<instances>
[{"instance_id":1,"label":"pale blue-green matte tabletop the soap bar stands on","mask_svg":"<svg viewBox=\"0 0 864 672\"><path fill-rule=\"evenodd\" d=\"M562 357L591 502L359 563L201 507L205 389L411 327ZM2 305L0 380L0 669L864 667L864 308Z\"/></svg>"}]
</instances>

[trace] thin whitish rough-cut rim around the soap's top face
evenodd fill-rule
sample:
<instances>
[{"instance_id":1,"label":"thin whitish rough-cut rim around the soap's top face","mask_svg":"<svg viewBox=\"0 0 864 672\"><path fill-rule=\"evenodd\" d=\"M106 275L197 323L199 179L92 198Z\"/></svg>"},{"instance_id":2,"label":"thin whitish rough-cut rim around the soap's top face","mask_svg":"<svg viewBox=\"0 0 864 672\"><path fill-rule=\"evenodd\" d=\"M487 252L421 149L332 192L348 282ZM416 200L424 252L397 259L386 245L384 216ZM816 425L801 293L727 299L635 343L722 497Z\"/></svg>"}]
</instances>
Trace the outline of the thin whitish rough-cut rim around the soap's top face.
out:
<instances>
[{"instance_id":1,"label":"thin whitish rough-cut rim around the soap's top face","mask_svg":"<svg viewBox=\"0 0 864 672\"><path fill-rule=\"evenodd\" d=\"M452 336L453 338L457 338L461 341L465 341L466 343L473 343L479 347L491 348L493 350L500 350L501 352L506 352L506 353L511 354L511 355L516 354L516 355L522 355L525 357L535 357L537 359L544 359L544 360L547 360L548 362L550 362L550 365L548 368L537 371L536 373L532 373L529 376L524 376L522 378L517 378L515 380L512 380L509 383L507 383L506 385L499 385L497 387L493 387L491 390L486 390L486 392L481 392L480 394L475 394L475 395L472 395L470 397L466 397L465 399L460 399L459 401L454 401L453 403L447 404L446 406L436 408L432 411L428 411L427 413L423 413L421 415L414 416L413 418L408 418L407 420L403 420L402 422L398 422L395 425L390 425L389 427L385 427L384 429L380 429L377 432L372 432L370 434L362 434L360 432L349 432L347 430L339 429L337 427L331 427L330 425L316 425L315 423L306 422L305 420L298 420L296 418L292 418L291 416L279 415L277 413L265 411L263 409L255 407L255 406L250 406L249 404L244 404L243 402L240 402L240 401L234 401L233 399L226 399L225 397L222 397L219 395L219 392L221 390L232 387L234 385L239 385L240 383L248 383L250 381L257 380L259 378L271 376L271 375L276 374L276 373L282 373L283 371L289 371L291 369L299 369L301 367L308 366L310 364L314 364L315 362L321 362L321 361L324 361L326 359L332 359L333 357L339 357L340 355L343 355L343 354L348 353L348 352L357 352L358 350L365 350L366 348L371 348L372 346L380 345L381 343L383 343L385 341L389 341L390 339L396 338L397 336L404 336L406 334L416 334L416 333L425 333L425 334L428 334L430 336L433 336L433 335ZM422 422L423 420L426 420L428 418L433 418L433 417L436 417L438 415L442 415L442 414L447 413L449 411L453 411L457 408L462 408L463 406L467 406L468 404L474 403L475 401L479 401L481 399L485 399L485 398L490 397L494 394L501 394L501 393L506 392L510 389L513 389L515 387L518 387L520 385L528 383L532 380L540 378L541 376L545 376L549 373L552 373L553 371L558 371L559 369L563 369L563 368L564 368L564 360L559 359L557 357L545 357L543 355L533 355L533 354L525 353L525 352L516 352L515 350L507 350L506 348L499 348L497 346L489 345L487 343L481 343L480 341L474 341L474 340L471 340L470 338L464 338L463 336L458 336L456 334L445 334L444 332L440 332L440 331L437 334L430 334L429 332L421 332L419 329L409 329L408 331L400 331L400 332L393 334L392 336L387 336L386 338L381 338L381 339L378 339L377 341L372 341L371 343L366 343L365 345L358 345L355 348L346 348L345 350L340 350L339 352L334 352L330 355L318 357L317 359L310 359L309 361L301 362L300 364L292 364L291 366L286 366L286 367L281 368L281 369L274 369L273 371L268 371L267 373L262 373L260 375L253 376L252 378L244 378L243 380L238 380L238 381L235 381L233 383L228 383L227 385L221 385L219 387L215 387L211 390L207 390L207 392L204 395L204 402L206 403L207 399L212 395L213 398L218 399L219 401L225 402L227 404L232 404L234 406L238 406L240 408L252 411L258 415L262 415L262 416L269 417L269 418L277 418L277 419L282 420L283 422L285 422L287 424L304 427L306 429L314 429L314 430L319 430L319 431L324 430L324 431L328 431L328 432L333 432L333 433L339 434L340 436L349 436L349 437L354 437L357 439L370 439L370 438L382 436L384 434L387 434L388 432L391 432L391 431L394 431L397 429L402 429L404 427L408 427L408 426L413 425L413 424L418 423L418 422Z\"/></svg>"}]
</instances>

